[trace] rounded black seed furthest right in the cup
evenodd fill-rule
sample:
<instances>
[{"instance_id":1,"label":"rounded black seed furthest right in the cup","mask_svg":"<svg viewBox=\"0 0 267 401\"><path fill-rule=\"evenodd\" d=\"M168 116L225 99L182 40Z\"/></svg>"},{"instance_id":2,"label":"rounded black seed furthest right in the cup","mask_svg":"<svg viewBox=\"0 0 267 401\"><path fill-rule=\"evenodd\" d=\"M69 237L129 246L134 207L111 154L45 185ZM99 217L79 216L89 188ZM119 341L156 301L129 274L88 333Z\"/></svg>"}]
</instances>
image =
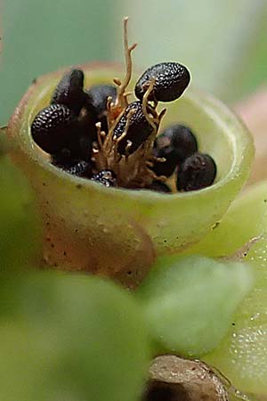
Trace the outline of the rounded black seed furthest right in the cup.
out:
<instances>
[{"instance_id":1,"label":"rounded black seed furthest right in the cup","mask_svg":"<svg viewBox=\"0 0 267 401\"><path fill-rule=\"evenodd\" d=\"M208 154L194 153L184 160L177 176L178 191L196 191L214 183L216 165Z\"/></svg>"}]
</instances>

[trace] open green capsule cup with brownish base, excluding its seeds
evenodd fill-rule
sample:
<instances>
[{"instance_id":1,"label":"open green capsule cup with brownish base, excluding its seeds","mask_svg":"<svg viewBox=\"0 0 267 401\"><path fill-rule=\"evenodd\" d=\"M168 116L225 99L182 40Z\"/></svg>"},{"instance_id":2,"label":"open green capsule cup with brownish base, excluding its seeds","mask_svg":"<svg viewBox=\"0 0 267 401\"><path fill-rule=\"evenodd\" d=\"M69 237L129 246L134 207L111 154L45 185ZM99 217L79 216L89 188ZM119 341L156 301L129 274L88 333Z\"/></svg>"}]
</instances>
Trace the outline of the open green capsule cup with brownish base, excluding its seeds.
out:
<instances>
[{"instance_id":1,"label":"open green capsule cup with brownish base, excluding its seeds","mask_svg":"<svg viewBox=\"0 0 267 401\"><path fill-rule=\"evenodd\" d=\"M86 87L123 75L114 65L82 68ZM190 247L221 219L247 180L254 156L252 137L223 103L190 88L178 101L164 104L167 112L161 128L176 122L192 128L199 150L216 162L214 184L174 194L106 188L54 167L32 140L31 122L49 104L61 76L62 71L37 79L8 127L12 159L26 171L38 196L44 261L135 286L156 255Z\"/></svg>"}]
</instances>

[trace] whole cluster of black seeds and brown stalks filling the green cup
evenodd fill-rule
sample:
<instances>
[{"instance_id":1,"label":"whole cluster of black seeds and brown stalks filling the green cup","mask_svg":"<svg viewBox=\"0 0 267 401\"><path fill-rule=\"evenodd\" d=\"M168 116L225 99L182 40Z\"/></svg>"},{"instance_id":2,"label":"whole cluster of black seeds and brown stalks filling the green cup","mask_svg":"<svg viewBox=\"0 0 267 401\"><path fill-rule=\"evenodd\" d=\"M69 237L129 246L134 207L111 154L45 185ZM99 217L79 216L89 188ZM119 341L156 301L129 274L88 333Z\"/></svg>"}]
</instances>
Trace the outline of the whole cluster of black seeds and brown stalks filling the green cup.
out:
<instances>
[{"instance_id":1,"label":"whole cluster of black seeds and brown stalks filling the green cup","mask_svg":"<svg viewBox=\"0 0 267 401\"><path fill-rule=\"evenodd\" d=\"M128 102L126 86L132 73L125 28L125 80L117 86L84 88L84 72L70 70L55 88L51 103L31 125L35 143L51 155L54 166L107 187L174 192L194 191L213 184L214 160L198 152L189 127L176 124L158 135L165 111L158 102L173 102L190 83L190 73L177 62L162 62L138 79ZM172 185L174 188L174 184Z\"/></svg>"}]
</instances>

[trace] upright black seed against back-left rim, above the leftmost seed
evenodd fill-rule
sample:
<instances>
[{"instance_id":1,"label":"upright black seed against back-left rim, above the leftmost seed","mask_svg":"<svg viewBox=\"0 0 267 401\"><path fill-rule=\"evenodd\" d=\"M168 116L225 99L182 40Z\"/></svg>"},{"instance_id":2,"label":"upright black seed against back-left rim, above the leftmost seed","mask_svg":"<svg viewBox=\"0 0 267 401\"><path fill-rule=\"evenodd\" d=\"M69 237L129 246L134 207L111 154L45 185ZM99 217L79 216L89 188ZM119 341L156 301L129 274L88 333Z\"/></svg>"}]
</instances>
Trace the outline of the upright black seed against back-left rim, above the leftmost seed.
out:
<instances>
[{"instance_id":1,"label":"upright black seed against back-left rim, above the leftmost seed","mask_svg":"<svg viewBox=\"0 0 267 401\"><path fill-rule=\"evenodd\" d=\"M70 70L55 88L51 103L65 104L74 113L78 114L85 106L87 99L84 93L85 74L82 70Z\"/></svg>"}]
</instances>

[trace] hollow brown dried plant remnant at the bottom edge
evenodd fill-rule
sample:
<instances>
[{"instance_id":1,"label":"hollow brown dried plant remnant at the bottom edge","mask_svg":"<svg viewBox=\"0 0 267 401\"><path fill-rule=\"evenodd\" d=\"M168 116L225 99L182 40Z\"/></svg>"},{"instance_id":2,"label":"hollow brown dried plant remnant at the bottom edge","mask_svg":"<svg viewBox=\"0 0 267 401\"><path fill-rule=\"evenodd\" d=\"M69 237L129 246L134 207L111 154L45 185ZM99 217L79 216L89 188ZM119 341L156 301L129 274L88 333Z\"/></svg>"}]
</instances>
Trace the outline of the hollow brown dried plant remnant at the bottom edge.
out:
<instances>
[{"instance_id":1,"label":"hollow brown dried plant remnant at the bottom edge","mask_svg":"<svg viewBox=\"0 0 267 401\"><path fill-rule=\"evenodd\" d=\"M204 363L158 356L142 401L229 401L223 381Z\"/></svg>"}]
</instances>

